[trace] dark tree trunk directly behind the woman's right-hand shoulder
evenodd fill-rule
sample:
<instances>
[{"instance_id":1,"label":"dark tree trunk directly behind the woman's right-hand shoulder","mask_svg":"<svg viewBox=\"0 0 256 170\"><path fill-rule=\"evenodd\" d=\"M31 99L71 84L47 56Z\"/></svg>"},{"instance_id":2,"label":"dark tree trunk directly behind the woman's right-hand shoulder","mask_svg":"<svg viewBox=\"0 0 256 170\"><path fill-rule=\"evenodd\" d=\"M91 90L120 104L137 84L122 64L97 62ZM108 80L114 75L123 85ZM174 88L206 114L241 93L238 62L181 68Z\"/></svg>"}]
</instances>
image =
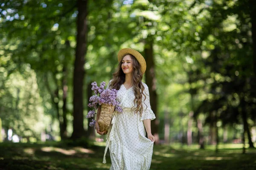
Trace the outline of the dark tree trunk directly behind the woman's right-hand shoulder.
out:
<instances>
[{"instance_id":1,"label":"dark tree trunk directly behind the woman's right-hand shoulder","mask_svg":"<svg viewBox=\"0 0 256 170\"><path fill-rule=\"evenodd\" d=\"M153 52L153 40L147 39L144 47L145 60L147 63L147 69L145 71L146 84L150 94L151 109L154 112L156 119L151 121L151 133L155 136L155 144L159 144L158 135L158 124L159 120L157 117L157 79L155 77L155 66L154 66L154 52Z\"/></svg>"}]
</instances>

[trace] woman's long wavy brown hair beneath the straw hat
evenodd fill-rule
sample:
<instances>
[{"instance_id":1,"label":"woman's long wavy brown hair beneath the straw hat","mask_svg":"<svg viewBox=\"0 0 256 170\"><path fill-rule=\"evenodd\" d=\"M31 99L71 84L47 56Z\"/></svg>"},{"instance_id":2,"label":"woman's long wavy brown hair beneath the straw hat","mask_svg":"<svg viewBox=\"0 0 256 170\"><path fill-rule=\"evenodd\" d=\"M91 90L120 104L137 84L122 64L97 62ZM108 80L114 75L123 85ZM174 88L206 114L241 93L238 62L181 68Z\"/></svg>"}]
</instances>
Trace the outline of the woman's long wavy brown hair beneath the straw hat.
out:
<instances>
[{"instance_id":1,"label":"woman's long wavy brown hair beneath the straw hat","mask_svg":"<svg viewBox=\"0 0 256 170\"><path fill-rule=\"evenodd\" d=\"M146 96L144 94L144 86L142 84L142 78L143 78L143 74L140 70L140 63L138 62L138 60L131 54L126 54L126 55L130 55L131 59L132 59L132 65L133 65L133 77L132 77L132 85L133 85L133 91L134 91L134 95L135 95L135 99L134 99L134 107L137 105L136 108L132 107L131 109L135 113L140 113L140 116L142 116L143 113L143 104L142 104L142 100L143 100L143 96L144 96L144 103L145 103L145 99ZM126 56L124 55L124 57ZM116 72L113 73L113 79L110 83L110 88L114 88L116 90L119 90L121 85L124 84L125 82L125 74L122 71L122 59L119 62L117 68L116 68ZM147 106L148 107L148 106Z\"/></svg>"}]
</instances>

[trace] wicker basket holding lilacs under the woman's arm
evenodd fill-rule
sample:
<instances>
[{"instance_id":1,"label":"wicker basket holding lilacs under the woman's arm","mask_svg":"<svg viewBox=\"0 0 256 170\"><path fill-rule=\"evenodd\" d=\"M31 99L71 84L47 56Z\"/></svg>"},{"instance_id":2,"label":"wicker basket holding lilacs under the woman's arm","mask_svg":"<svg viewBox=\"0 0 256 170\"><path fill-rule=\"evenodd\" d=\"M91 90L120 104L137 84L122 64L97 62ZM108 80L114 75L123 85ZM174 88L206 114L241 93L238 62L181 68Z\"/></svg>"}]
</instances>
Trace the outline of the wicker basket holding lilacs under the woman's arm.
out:
<instances>
[{"instance_id":1,"label":"wicker basket holding lilacs under the woman's arm","mask_svg":"<svg viewBox=\"0 0 256 170\"><path fill-rule=\"evenodd\" d=\"M115 106L113 105L107 105L107 104L102 104L101 105L101 111L99 115L99 131L104 132L104 134L108 133L108 128L111 123L112 115L115 110Z\"/></svg>"}]
</instances>

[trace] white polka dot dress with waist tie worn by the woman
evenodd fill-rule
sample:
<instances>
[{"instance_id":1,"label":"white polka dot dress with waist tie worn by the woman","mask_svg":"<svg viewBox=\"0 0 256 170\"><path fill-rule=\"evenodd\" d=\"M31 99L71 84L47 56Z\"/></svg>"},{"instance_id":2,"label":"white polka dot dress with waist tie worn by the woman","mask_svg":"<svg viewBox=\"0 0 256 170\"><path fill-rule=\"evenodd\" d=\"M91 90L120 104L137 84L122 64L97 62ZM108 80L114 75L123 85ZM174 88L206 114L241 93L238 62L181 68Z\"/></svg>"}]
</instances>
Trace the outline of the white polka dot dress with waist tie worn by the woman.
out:
<instances>
[{"instance_id":1,"label":"white polka dot dress with waist tie worn by the woman","mask_svg":"<svg viewBox=\"0 0 256 170\"><path fill-rule=\"evenodd\" d=\"M145 83L143 85L146 99L143 96L145 103L143 102L142 117L131 111L135 99L133 87L126 89L121 85L117 93L123 112L113 113L103 158L103 163L106 163L105 155L109 148L112 163L110 170L149 170L150 168L154 143L145 137L143 120L153 120L155 115L149 102L148 86Z\"/></svg>"}]
</instances>

